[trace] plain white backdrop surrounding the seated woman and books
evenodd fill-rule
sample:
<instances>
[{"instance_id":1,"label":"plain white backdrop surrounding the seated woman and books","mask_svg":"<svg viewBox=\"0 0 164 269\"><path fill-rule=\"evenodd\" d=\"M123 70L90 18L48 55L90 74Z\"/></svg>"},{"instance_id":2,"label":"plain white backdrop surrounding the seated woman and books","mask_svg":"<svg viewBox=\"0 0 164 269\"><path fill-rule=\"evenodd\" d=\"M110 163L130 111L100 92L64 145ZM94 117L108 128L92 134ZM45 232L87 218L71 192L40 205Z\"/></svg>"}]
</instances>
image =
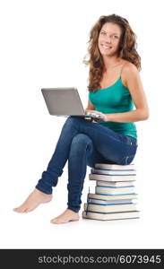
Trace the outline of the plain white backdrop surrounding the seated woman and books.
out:
<instances>
[{"instance_id":1,"label":"plain white backdrop surrounding the seated woman and books","mask_svg":"<svg viewBox=\"0 0 164 269\"><path fill-rule=\"evenodd\" d=\"M1 1L1 248L162 248L163 1ZM65 117L48 114L42 87L76 86L87 106L82 64L92 25L101 15L125 17L137 35L142 83L151 117L137 122L139 220L82 220L52 225L65 210L67 164L49 204L13 213L30 194L54 152ZM90 185L87 169L82 203ZM80 212L82 214L82 210Z\"/></svg>"}]
</instances>

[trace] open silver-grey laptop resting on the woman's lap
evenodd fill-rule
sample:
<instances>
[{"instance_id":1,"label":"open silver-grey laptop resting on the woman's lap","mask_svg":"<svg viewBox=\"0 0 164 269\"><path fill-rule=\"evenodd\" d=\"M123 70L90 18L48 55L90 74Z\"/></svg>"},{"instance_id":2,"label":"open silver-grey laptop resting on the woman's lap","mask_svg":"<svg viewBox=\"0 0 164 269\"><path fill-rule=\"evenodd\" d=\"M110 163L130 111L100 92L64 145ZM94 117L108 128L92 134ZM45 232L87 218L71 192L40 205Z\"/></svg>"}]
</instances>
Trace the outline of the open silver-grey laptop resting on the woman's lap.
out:
<instances>
[{"instance_id":1,"label":"open silver-grey laptop resting on the woman's lap","mask_svg":"<svg viewBox=\"0 0 164 269\"><path fill-rule=\"evenodd\" d=\"M85 112L82 100L76 88L44 88L41 89L43 98L50 115L75 116L84 118L102 119L102 115Z\"/></svg>"}]
</instances>

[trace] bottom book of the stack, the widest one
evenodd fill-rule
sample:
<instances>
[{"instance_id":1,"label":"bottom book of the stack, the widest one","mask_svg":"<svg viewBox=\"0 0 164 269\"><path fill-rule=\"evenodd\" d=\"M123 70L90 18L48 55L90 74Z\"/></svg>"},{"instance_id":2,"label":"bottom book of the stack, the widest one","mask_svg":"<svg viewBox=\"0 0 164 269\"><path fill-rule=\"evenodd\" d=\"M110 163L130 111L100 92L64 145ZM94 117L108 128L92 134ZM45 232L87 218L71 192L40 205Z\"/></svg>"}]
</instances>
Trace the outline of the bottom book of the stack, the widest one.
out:
<instances>
[{"instance_id":1,"label":"bottom book of the stack, the widest one","mask_svg":"<svg viewBox=\"0 0 164 269\"><path fill-rule=\"evenodd\" d=\"M93 213L93 212L83 211L82 218L99 220L99 221L138 219L139 211L122 212L122 213Z\"/></svg>"}]
</instances>

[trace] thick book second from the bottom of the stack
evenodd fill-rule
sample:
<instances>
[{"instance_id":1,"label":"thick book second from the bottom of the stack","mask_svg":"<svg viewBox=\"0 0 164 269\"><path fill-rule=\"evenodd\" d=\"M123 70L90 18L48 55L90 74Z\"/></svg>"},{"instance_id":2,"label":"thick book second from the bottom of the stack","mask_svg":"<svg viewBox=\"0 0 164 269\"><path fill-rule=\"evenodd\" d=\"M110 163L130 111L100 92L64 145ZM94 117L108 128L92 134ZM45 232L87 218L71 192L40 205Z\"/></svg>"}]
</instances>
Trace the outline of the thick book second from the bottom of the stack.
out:
<instances>
[{"instance_id":1,"label":"thick book second from the bottom of the stack","mask_svg":"<svg viewBox=\"0 0 164 269\"><path fill-rule=\"evenodd\" d=\"M136 211L136 204L91 204L84 203L84 211L99 213L114 213Z\"/></svg>"}]
</instances>

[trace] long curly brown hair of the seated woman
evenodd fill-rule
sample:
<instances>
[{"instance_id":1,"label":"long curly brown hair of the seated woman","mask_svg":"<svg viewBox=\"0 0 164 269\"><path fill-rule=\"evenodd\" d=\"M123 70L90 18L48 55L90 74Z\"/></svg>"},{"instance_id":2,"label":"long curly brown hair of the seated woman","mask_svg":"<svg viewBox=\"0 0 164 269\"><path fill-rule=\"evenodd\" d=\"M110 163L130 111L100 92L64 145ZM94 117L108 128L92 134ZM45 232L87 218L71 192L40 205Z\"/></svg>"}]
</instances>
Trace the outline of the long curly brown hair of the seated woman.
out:
<instances>
[{"instance_id":1,"label":"long curly brown hair of the seated woman","mask_svg":"<svg viewBox=\"0 0 164 269\"><path fill-rule=\"evenodd\" d=\"M89 91L97 91L100 88L100 79L104 71L103 58L99 52L98 39L99 31L106 22L117 24L122 30L122 36L119 43L118 56L134 64L137 69L141 70L141 57L136 51L136 35L131 29L129 22L116 14L108 16L100 16L99 21L95 23L90 32L90 39L88 41L88 55L86 60L84 56L83 63L90 66L89 72Z\"/></svg>"}]
</instances>

